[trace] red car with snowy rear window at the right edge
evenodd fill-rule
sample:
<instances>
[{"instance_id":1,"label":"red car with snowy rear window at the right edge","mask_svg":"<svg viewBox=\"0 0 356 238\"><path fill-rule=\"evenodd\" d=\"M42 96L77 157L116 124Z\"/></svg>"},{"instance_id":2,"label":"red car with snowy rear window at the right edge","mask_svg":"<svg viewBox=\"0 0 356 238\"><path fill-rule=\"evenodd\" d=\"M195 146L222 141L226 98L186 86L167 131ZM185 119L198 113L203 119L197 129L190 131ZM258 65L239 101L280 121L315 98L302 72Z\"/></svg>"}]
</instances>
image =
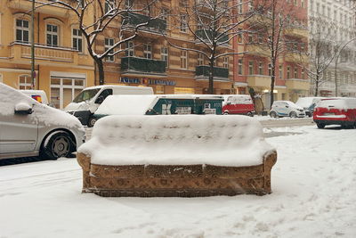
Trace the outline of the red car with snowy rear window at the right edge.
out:
<instances>
[{"instance_id":1,"label":"red car with snowy rear window at the right edge","mask_svg":"<svg viewBox=\"0 0 356 238\"><path fill-rule=\"evenodd\" d=\"M313 120L318 128L327 125L356 127L356 98L323 99L315 107Z\"/></svg>"}]
</instances>

